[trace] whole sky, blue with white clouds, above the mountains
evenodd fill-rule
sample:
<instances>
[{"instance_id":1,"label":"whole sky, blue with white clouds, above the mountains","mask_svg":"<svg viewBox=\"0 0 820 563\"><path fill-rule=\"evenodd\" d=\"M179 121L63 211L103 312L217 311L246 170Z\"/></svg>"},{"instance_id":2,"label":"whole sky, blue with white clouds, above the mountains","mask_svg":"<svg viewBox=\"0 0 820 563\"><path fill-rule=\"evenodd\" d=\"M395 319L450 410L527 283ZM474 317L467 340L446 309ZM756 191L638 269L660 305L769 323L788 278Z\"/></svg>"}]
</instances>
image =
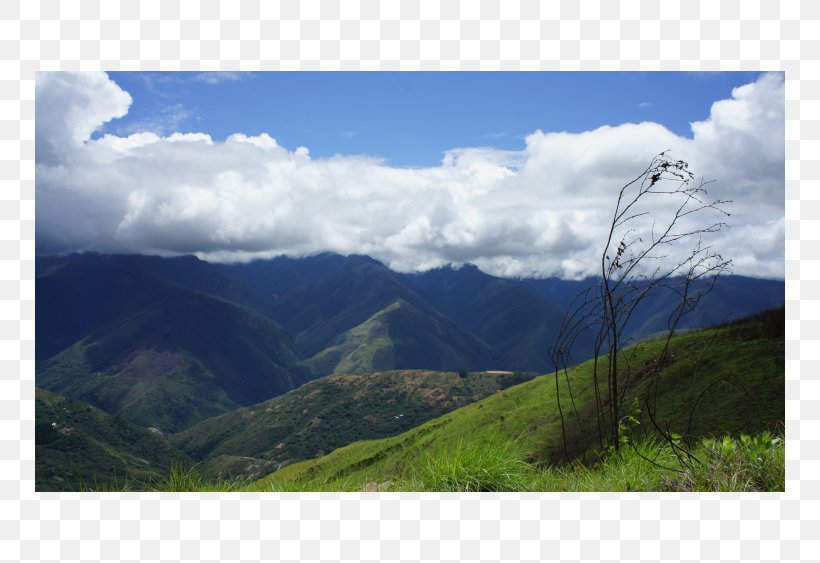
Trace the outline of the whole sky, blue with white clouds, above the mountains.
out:
<instances>
[{"instance_id":1,"label":"whole sky, blue with white clouds, above the mountains","mask_svg":"<svg viewBox=\"0 0 820 563\"><path fill-rule=\"evenodd\" d=\"M35 86L39 254L337 252L578 279L600 265L619 188L668 150L733 202L704 244L736 273L784 275L783 73L44 72ZM653 201L635 236L676 209Z\"/></svg>"}]
</instances>

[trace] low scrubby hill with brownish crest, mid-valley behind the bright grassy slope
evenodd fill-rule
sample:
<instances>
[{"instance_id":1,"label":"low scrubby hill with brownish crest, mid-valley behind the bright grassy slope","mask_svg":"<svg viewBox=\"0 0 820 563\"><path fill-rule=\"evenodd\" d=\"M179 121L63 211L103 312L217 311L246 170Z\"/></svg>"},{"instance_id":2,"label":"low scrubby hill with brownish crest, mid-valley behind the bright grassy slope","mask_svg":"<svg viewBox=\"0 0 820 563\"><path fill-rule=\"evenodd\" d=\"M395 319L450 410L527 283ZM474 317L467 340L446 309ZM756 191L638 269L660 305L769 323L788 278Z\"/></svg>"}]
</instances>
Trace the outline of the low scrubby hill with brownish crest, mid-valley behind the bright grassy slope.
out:
<instances>
[{"instance_id":1,"label":"low scrubby hill with brownish crest, mid-valley behind the bright grassy slope","mask_svg":"<svg viewBox=\"0 0 820 563\"><path fill-rule=\"evenodd\" d=\"M356 440L398 434L532 377L431 371L332 375L200 422L171 442L205 461L203 471L209 474L218 473L215 467L241 472L243 464L285 465ZM225 466L229 462L233 466Z\"/></svg>"}]
</instances>

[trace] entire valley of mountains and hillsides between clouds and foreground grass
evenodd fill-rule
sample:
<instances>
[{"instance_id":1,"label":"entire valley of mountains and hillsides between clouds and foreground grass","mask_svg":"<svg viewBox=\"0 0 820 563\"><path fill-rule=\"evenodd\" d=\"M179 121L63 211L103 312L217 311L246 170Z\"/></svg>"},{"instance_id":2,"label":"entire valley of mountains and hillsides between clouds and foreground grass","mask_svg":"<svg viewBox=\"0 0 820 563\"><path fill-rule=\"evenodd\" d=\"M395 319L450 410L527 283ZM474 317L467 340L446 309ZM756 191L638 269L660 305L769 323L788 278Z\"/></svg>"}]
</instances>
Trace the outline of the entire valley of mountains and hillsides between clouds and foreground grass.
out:
<instances>
[{"instance_id":1,"label":"entire valley of mountains and hillsides between clouds and foreground grass","mask_svg":"<svg viewBox=\"0 0 820 563\"><path fill-rule=\"evenodd\" d=\"M38 490L104 489L126 475L151 488L174 464L206 479L268 479L247 485L255 490L308 490L306 474L360 490L374 472L400 483L412 460L458 443L514 440L538 466L595 451L583 385L573 401L587 422L561 438L547 353L571 296L594 280L497 278L469 265L402 274L335 254L210 264L87 253L39 257L36 276ZM783 295L782 281L725 276L680 328L731 327ZM663 299L648 299L628 340L651 348L642 339L668 316ZM731 416L698 419L687 435L776 429L779 326L746 340L710 329L722 335L708 337L714 345L708 332L677 337L659 409L683 423L697 397L694 362L752 379L742 393L727 383L735 390L713 403L698 399ZM591 338L577 345L578 361L592 357Z\"/></svg>"}]
</instances>

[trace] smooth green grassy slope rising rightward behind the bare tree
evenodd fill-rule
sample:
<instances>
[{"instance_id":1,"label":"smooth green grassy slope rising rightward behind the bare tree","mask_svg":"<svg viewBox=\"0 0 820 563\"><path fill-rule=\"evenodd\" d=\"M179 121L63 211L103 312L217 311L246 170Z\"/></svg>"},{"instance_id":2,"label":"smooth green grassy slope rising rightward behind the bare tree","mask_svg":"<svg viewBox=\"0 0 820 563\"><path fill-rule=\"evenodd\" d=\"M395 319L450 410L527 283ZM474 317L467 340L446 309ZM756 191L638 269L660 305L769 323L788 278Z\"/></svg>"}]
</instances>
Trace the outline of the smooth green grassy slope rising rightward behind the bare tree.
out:
<instances>
[{"instance_id":1,"label":"smooth green grassy slope rising rightward behind the bare tree","mask_svg":"<svg viewBox=\"0 0 820 563\"><path fill-rule=\"evenodd\" d=\"M633 370L643 374L631 395L643 397L653 382L652 359L661 342L647 342L624 352ZM487 399L431 420L392 438L363 441L318 459L282 468L254 483L251 490L352 489L381 483L389 489L423 472L424 460L446 460L453 452L492 452L499 444L515 444L511 463L553 466L585 459L600 450L593 417L591 362L559 378L567 418L566 438L556 403L552 376L511 387ZM759 433L782 428L784 420L783 309L715 329L692 332L672 342L669 362L658 374L656 419L685 439L723 434ZM569 390L577 415L568 407ZM627 396L625 404L630 404ZM624 413L626 414L626 413ZM638 430L651 429L641 413ZM651 433L635 440L649 439ZM564 446L566 444L566 448ZM503 452L502 452L503 453ZM432 458L431 458L432 456ZM502 456L503 457L503 456Z\"/></svg>"}]
</instances>

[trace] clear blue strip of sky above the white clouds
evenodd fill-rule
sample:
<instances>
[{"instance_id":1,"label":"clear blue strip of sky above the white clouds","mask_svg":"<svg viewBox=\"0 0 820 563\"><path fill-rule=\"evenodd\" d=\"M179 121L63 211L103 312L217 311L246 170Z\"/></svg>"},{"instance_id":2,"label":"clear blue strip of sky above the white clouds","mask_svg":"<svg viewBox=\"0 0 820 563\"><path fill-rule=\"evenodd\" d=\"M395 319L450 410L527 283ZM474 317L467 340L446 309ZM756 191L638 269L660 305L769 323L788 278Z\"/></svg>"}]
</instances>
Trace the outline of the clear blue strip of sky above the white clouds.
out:
<instances>
[{"instance_id":1,"label":"clear blue strip of sky above the white clouds","mask_svg":"<svg viewBox=\"0 0 820 563\"><path fill-rule=\"evenodd\" d=\"M690 122L754 72L112 72L128 115L98 133L268 133L315 158L367 154L433 166L456 147L521 150L526 135Z\"/></svg>"}]
</instances>

